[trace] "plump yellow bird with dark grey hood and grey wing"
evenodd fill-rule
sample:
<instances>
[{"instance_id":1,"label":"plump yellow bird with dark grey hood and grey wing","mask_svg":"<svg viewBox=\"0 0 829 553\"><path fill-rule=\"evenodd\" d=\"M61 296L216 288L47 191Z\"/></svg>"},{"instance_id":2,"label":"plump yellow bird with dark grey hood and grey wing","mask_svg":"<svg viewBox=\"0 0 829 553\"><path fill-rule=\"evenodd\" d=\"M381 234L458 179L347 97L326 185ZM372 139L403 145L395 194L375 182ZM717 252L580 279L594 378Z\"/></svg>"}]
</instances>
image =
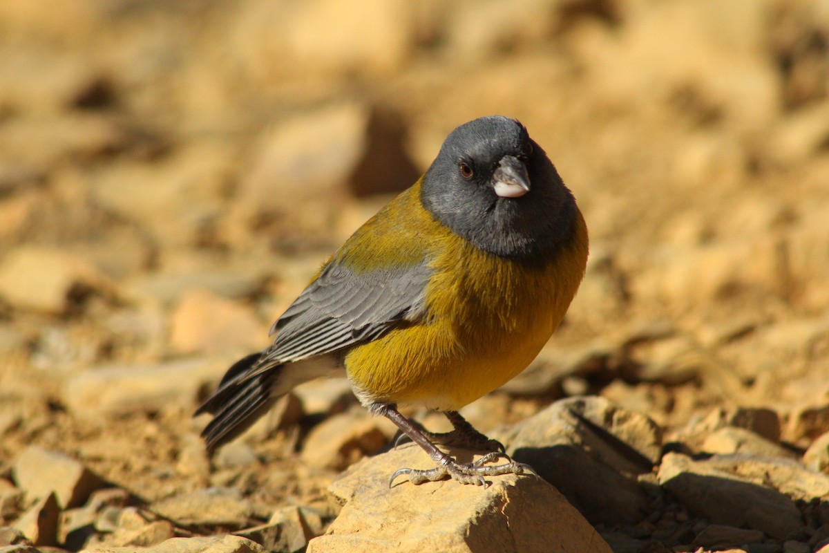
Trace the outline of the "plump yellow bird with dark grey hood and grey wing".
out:
<instances>
[{"instance_id":1,"label":"plump yellow bird with dark grey hood and grey wing","mask_svg":"<svg viewBox=\"0 0 829 553\"><path fill-rule=\"evenodd\" d=\"M588 231L570 189L516 119L448 134L434 162L361 226L273 326L269 347L230 366L196 410L208 451L234 439L294 386L347 376L356 398L418 444L434 468L414 484L534 474L458 412L523 371L584 277ZM400 406L443 412L431 433ZM488 453L460 463L438 446ZM446 448L444 448L446 449ZM497 464L501 458L506 462Z\"/></svg>"}]
</instances>

